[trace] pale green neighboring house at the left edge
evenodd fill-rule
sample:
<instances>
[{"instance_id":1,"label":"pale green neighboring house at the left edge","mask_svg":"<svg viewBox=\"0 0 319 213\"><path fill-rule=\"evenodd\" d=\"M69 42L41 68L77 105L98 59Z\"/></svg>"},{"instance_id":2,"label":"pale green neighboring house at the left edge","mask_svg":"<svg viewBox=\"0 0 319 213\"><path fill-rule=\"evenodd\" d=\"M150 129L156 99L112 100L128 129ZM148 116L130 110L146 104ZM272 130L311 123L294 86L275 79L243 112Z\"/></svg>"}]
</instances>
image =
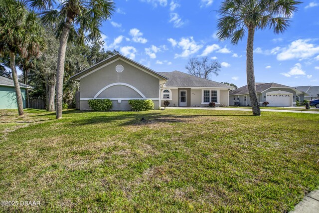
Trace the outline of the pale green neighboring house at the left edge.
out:
<instances>
[{"instance_id":1,"label":"pale green neighboring house at the left edge","mask_svg":"<svg viewBox=\"0 0 319 213\"><path fill-rule=\"evenodd\" d=\"M26 84L20 84L23 108L25 108L25 89L32 89ZM0 76L0 109L17 109L13 80Z\"/></svg>"}]
</instances>

